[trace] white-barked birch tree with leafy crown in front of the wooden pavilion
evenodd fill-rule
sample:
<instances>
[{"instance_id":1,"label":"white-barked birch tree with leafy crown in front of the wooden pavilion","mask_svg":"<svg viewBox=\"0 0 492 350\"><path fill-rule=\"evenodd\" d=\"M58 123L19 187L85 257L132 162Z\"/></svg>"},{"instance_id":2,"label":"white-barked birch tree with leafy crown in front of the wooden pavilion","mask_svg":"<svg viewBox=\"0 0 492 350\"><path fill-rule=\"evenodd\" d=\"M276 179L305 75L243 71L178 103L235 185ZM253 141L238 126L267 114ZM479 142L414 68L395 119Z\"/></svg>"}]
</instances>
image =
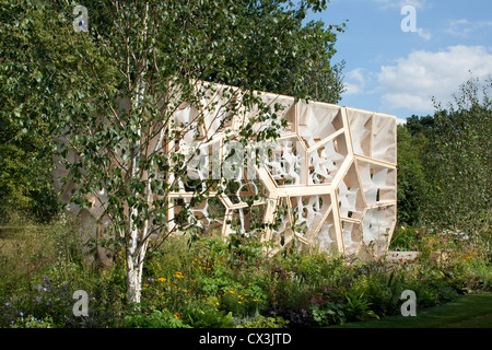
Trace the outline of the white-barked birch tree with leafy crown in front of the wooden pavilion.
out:
<instances>
[{"instance_id":1,"label":"white-barked birch tree with leafy crown in front of the wooden pavilion","mask_svg":"<svg viewBox=\"0 0 492 350\"><path fill-rule=\"evenodd\" d=\"M253 90L339 98L340 75L328 62L309 79L319 77L319 85L331 79L329 93L307 91L301 69L291 74L296 61L315 67L332 55L330 30L301 25L326 1L85 1L89 33L73 31L68 1L3 4L10 32L1 85L16 97L2 106L4 116L52 141L77 205L106 196L108 228L125 246L129 302L140 300L150 235L166 232L166 194L186 180L186 160L163 150L196 126L169 128L173 116L185 102L203 113L213 107L201 105L210 86L197 89L197 81L238 86L225 93L231 101L242 94L241 104L229 105L231 116L257 105L262 120L274 112ZM249 125L241 138L274 138L276 125L260 135Z\"/></svg>"}]
</instances>

